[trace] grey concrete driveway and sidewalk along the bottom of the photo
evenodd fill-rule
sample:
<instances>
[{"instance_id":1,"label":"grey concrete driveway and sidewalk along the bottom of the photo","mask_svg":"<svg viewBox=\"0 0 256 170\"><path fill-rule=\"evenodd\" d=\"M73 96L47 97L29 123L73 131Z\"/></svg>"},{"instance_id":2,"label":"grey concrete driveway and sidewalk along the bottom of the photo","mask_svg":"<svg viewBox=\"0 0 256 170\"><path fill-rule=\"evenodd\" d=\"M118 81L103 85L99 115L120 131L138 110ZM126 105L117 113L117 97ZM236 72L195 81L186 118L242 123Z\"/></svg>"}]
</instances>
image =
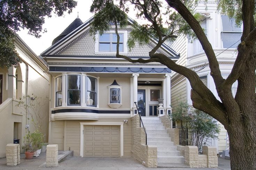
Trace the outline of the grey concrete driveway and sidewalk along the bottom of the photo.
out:
<instances>
[{"instance_id":1,"label":"grey concrete driveway and sidewalk along the bottom of the photo","mask_svg":"<svg viewBox=\"0 0 256 170\"><path fill-rule=\"evenodd\" d=\"M21 154L21 164L6 165L6 158L0 159L0 170L230 170L230 160L219 158L219 168L147 168L136 160L121 157L71 157L58 167L39 167L46 161L46 153L26 160Z\"/></svg>"}]
</instances>

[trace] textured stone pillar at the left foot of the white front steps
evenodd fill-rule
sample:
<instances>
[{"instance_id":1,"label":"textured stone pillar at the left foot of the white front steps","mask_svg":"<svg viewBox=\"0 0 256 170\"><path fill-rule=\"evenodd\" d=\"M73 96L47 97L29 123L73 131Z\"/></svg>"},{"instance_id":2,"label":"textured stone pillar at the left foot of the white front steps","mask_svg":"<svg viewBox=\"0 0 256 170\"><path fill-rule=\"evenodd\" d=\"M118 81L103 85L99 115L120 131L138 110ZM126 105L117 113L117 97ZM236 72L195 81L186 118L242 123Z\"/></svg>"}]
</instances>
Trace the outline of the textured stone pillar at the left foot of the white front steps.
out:
<instances>
[{"instance_id":1,"label":"textured stone pillar at the left foot of the white front steps","mask_svg":"<svg viewBox=\"0 0 256 170\"><path fill-rule=\"evenodd\" d=\"M150 168L157 168L157 165L157 147L146 145L145 166Z\"/></svg>"}]
</instances>

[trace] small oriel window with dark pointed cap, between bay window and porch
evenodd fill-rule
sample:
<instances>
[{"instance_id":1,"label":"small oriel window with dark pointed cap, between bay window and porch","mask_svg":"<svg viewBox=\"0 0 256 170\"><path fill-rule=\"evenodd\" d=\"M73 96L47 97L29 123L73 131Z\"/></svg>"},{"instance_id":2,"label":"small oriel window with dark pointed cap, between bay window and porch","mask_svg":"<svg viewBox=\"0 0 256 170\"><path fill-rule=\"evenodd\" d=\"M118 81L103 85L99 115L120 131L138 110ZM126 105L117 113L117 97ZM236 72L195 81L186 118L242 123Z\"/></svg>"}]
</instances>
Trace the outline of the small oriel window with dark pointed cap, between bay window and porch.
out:
<instances>
[{"instance_id":1,"label":"small oriel window with dark pointed cap, between bay window and porch","mask_svg":"<svg viewBox=\"0 0 256 170\"><path fill-rule=\"evenodd\" d=\"M109 94L109 100L108 105L111 108L119 108L122 106L121 101L121 94L122 94L122 86L117 84L116 80L108 86L108 94Z\"/></svg>"}]
</instances>

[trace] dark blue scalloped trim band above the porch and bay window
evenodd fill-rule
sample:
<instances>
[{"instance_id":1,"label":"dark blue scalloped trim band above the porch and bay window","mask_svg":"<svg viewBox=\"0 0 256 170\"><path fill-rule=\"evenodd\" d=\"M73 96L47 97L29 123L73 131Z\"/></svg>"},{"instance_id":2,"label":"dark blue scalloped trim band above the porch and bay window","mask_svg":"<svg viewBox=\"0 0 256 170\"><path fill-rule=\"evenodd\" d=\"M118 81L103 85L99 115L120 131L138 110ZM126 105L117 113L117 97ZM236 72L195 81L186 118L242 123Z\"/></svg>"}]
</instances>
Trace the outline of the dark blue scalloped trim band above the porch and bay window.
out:
<instances>
[{"instance_id":1,"label":"dark blue scalloped trim band above the porch and bay window","mask_svg":"<svg viewBox=\"0 0 256 170\"><path fill-rule=\"evenodd\" d=\"M170 68L148 67L67 67L50 66L50 72L102 72L102 73L171 73Z\"/></svg>"}]
</instances>

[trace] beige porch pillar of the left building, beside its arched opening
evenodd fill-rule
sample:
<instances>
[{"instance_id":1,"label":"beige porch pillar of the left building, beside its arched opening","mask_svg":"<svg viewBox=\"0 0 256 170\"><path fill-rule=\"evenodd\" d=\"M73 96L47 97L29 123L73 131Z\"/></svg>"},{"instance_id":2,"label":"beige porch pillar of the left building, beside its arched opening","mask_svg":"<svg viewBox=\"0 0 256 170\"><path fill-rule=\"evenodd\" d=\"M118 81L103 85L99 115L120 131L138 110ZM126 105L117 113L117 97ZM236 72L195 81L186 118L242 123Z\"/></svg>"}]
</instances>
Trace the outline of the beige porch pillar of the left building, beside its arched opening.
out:
<instances>
[{"instance_id":1,"label":"beige porch pillar of the left building, beside its arched opening","mask_svg":"<svg viewBox=\"0 0 256 170\"><path fill-rule=\"evenodd\" d=\"M8 98L16 98L16 68L8 68Z\"/></svg>"}]
</instances>

